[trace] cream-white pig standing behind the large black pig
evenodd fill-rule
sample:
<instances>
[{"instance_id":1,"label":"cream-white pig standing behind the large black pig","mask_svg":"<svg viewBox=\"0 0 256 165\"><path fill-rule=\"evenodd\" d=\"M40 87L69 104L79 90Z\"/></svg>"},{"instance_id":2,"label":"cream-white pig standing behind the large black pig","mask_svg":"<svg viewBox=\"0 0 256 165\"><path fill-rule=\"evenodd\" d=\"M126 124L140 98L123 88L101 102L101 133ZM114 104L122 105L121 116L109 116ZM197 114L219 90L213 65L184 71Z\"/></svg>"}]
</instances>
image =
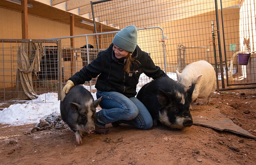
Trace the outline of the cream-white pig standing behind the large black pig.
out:
<instances>
[{"instance_id":1,"label":"cream-white pig standing behind the large black pig","mask_svg":"<svg viewBox=\"0 0 256 165\"><path fill-rule=\"evenodd\" d=\"M216 90L216 73L211 64L204 60L196 61L187 65L181 73L176 71L176 74L178 83L182 84L185 90L195 84L192 102L202 98L206 99L206 104L210 104L211 96Z\"/></svg>"}]
</instances>

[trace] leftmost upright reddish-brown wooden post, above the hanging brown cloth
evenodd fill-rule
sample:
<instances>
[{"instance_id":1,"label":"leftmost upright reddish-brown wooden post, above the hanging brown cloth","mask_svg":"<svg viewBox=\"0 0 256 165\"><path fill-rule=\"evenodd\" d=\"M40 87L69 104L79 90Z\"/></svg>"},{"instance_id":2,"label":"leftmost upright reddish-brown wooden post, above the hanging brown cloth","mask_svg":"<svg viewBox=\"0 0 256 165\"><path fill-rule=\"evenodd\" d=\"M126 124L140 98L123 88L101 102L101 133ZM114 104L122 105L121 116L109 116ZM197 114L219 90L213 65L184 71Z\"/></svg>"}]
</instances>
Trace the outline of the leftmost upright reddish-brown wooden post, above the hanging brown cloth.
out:
<instances>
[{"instance_id":1,"label":"leftmost upright reddish-brown wooden post, above the hanging brown cloth","mask_svg":"<svg viewBox=\"0 0 256 165\"><path fill-rule=\"evenodd\" d=\"M22 39L28 39L28 1L21 1L21 27L22 27Z\"/></svg>"}]
</instances>

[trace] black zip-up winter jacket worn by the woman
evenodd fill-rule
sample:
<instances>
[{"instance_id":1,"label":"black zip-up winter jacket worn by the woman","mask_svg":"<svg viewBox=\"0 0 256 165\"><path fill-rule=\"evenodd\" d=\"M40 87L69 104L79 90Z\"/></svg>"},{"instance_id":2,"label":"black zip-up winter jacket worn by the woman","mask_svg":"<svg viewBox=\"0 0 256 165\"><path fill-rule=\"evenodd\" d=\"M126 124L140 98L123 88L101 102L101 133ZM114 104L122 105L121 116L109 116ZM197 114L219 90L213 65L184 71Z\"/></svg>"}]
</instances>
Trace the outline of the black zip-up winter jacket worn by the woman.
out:
<instances>
[{"instance_id":1,"label":"black zip-up winter jacket worn by the woman","mask_svg":"<svg viewBox=\"0 0 256 165\"><path fill-rule=\"evenodd\" d=\"M76 86L99 75L95 85L97 90L115 91L124 94L126 97L134 97L137 94L136 86L142 73L153 79L167 76L138 45L132 56L136 56L136 60L140 61L141 64L133 64L130 67L129 74L124 71L124 63L121 60L114 61L112 54L114 54L113 44L108 49L99 52L97 58L91 64L76 72L69 79Z\"/></svg>"}]
</instances>

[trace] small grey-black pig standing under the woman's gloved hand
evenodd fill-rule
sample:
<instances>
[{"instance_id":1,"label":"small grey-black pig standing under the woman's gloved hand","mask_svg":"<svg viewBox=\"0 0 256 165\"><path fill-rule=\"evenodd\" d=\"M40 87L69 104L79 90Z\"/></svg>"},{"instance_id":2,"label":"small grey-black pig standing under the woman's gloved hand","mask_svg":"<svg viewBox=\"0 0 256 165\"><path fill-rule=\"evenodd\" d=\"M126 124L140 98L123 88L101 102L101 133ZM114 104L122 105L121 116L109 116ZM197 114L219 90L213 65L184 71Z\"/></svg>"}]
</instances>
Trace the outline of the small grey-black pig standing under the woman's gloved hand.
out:
<instances>
[{"instance_id":1,"label":"small grey-black pig standing under the woman's gloved hand","mask_svg":"<svg viewBox=\"0 0 256 165\"><path fill-rule=\"evenodd\" d=\"M94 133L95 108L99 105L100 100L101 98L94 101L92 94L78 85L71 88L65 99L60 101L61 118L75 132L77 144L82 143L82 132Z\"/></svg>"}]
</instances>

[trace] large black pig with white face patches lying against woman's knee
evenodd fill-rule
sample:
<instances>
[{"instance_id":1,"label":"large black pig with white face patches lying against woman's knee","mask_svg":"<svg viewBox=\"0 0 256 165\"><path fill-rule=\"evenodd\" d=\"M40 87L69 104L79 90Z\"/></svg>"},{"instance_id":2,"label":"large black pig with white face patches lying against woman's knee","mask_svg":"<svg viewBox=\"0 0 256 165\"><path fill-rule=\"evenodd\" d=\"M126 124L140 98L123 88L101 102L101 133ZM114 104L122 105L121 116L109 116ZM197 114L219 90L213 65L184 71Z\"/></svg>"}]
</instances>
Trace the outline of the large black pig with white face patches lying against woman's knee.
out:
<instances>
[{"instance_id":1,"label":"large black pig with white face patches lying against woman's knee","mask_svg":"<svg viewBox=\"0 0 256 165\"><path fill-rule=\"evenodd\" d=\"M181 84L165 76L145 84L137 98L146 106L153 118L153 126L160 123L182 129L193 123L189 106L195 84L185 92Z\"/></svg>"}]
</instances>

